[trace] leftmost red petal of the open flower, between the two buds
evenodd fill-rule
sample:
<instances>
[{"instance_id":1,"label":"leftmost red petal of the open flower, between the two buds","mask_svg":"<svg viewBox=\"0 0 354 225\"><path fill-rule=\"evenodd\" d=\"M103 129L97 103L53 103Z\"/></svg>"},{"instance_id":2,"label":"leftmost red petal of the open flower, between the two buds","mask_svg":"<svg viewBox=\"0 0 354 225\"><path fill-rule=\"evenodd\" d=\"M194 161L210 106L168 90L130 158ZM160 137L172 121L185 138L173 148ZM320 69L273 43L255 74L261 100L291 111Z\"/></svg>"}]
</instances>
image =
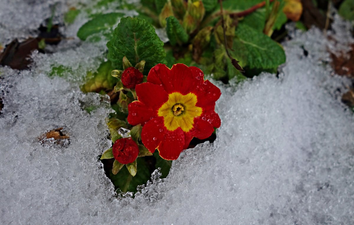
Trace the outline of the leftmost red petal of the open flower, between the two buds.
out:
<instances>
[{"instance_id":1,"label":"leftmost red petal of the open flower, between the two buds","mask_svg":"<svg viewBox=\"0 0 354 225\"><path fill-rule=\"evenodd\" d=\"M141 123L145 124L151 117L155 117L156 113L153 109L144 105L144 103L139 101L133 101L128 105L128 123L131 125L137 125Z\"/></svg>"}]
</instances>

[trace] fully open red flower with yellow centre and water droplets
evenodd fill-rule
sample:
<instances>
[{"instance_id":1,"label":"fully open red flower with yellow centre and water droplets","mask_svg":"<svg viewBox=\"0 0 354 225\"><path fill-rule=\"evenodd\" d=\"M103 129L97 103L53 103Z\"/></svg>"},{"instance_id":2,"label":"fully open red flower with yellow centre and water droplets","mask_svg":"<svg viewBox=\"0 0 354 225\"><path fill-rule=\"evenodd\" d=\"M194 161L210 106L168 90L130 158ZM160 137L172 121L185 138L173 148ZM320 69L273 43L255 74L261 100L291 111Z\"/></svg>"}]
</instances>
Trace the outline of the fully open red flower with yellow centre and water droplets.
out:
<instances>
[{"instance_id":1,"label":"fully open red flower with yellow centre and water droplets","mask_svg":"<svg viewBox=\"0 0 354 225\"><path fill-rule=\"evenodd\" d=\"M193 137L205 139L221 124L214 111L220 89L197 67L157 64L135 90L138 101L128 106L128 122L143 125L143 144L164 159L177 159Z\"/></svg>"}]
</instances>

